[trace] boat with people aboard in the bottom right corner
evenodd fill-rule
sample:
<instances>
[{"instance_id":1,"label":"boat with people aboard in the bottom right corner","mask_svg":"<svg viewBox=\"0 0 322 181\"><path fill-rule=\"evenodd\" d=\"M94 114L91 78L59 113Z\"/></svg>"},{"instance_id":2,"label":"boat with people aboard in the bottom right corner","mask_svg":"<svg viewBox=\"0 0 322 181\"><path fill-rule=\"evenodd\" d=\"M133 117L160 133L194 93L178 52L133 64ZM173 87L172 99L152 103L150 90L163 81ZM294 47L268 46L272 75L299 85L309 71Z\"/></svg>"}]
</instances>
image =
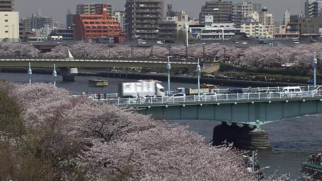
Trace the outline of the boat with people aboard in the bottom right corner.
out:
<instances>
[{"instance_id":1,"label":"boat with people aboard in the bottom right corner","mask_svg":"<svg viewBox=\"0 0 322 181\"><path fill-rule=\"evenodd\" d=\"M302 162L299 171L309 175L313 180L322 180L321 153L311 154L307 162Z\"/></svg>"}]
</instances>

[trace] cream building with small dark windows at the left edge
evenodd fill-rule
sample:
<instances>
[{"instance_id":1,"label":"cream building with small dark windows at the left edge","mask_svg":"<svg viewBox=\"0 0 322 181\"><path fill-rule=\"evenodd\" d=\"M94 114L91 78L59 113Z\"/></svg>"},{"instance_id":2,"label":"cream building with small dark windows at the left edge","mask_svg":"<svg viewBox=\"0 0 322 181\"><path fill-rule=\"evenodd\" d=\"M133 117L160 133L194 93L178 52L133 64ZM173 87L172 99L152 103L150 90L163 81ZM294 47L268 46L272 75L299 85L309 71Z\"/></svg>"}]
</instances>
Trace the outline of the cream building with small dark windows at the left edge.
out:
<instances>
[{"instance_id":1,"label":"cream building with small dark windows at the left edge","mask_svg":"<svg viewBox=\"0 0 322 181\"><path fill-rule=\"evenodd\" d=\"M19 41L19 12L0 12L0 41Z\"/></svg>"}]
</instances>

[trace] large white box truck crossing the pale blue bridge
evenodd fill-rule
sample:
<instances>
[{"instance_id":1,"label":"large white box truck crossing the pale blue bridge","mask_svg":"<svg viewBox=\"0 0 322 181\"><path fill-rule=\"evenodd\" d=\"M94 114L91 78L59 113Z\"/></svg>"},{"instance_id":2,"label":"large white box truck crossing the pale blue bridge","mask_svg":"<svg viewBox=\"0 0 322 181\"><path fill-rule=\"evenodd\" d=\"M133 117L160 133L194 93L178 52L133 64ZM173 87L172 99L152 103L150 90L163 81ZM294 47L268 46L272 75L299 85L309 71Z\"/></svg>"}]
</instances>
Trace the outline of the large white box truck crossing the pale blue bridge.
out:
<instances>
[{"instance_id":1,"label":"large white box truck crossing the pale blue bridge","mask_svg":"<svg viewBox=\"0 0 322 181\"><path fill-rule=\"evenodd\" d=\"M166 96L165 87L156 82L124 82L118 84L119 97Z\"/></svg>"}]
</instances>

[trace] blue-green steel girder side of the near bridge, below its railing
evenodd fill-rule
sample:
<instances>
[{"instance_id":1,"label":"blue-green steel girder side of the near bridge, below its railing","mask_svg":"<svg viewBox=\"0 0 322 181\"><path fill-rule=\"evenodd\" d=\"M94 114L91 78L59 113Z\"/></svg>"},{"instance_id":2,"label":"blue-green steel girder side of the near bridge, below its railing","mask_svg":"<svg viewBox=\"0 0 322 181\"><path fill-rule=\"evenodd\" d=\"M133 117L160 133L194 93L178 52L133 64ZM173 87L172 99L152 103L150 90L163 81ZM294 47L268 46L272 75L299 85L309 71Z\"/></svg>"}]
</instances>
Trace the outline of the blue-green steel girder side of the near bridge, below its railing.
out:
<instances>
[{"instance_id":1,"label":"blue-green steel girder side of the near bridge, below its railing","mask_svg":"<svg viewBox=\"0 0 322 181\"><path fill-rule=\"evenodd\" d=\"M307 114L322 113L322 97L258 101L193 102L130 105L140 113L166 120L216 120L260 125Z\"/></svg>"}]
</instances>

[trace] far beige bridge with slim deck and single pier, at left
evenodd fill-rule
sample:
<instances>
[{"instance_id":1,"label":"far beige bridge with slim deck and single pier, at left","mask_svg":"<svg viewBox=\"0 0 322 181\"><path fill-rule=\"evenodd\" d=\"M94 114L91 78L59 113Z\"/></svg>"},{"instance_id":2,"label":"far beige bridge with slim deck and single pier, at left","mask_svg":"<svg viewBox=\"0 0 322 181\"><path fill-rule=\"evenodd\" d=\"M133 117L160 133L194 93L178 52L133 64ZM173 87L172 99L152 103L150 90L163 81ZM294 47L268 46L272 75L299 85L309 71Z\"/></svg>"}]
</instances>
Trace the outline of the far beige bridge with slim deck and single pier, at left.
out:
<instances>
[{"instance_id":1,"label":"far beige bridge with slim deck and single pier, at left","mask_svg":"<svg viewBox=\"0 0 322 181\"><path fill-rule=\"evenodd\" d=\"M168 59L0 57L0 67L59 67L63 81L74 81L77 67L167 67ZM197 67L195 60L170 59L172 67Z\"/></svg>"}]
</instances>

